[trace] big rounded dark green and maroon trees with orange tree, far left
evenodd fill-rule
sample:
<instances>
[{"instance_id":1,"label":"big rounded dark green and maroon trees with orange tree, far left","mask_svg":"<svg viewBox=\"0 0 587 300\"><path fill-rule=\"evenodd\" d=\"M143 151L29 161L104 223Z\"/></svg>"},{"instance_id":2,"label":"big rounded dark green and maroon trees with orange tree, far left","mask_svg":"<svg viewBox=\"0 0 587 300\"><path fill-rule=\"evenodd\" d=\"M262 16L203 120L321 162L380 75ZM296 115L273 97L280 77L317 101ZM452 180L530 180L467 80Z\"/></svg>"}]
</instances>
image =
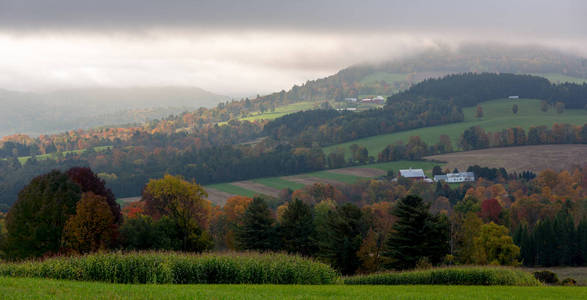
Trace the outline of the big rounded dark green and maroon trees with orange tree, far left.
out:
<instances>
[{"instance_id":1,"label":"big rounded dark green and maroon trees with orange tree, far left","mask_svg":"<svg viewBox=\"0 0 587 300\"><path fill-rule=\"evenodd\" d=\"M121 223L114 195L90 169L52 171L20 191L1 249L9 259L107 249Z\"/></svg>"}]
</instances>

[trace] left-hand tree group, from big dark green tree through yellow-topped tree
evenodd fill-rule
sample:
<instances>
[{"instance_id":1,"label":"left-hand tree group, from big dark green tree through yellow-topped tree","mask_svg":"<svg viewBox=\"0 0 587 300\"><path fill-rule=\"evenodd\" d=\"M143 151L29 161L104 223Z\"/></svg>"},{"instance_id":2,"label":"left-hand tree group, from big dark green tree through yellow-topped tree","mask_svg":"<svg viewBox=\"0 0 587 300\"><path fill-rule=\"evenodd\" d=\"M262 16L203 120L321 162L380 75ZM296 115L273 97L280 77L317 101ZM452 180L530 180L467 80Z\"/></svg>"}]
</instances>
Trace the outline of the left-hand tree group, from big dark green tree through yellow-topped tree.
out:
<instances>
[{"instance_id":1,"label":"left-hand tree group, from big dark green tree through yellow-topped tree","mask_svg":"<svg viewBox=\"0 0 587 300\"><path fill-rule=\"evenodd\" d=\"M9 260L108 249L211 249L210 202L201 186L166 175L145 186L139 207L121 215L114 195L89 168L34 178L6 215L0 254ZM0 231L2 233L2 231Z\"/></svg>"}]
</instances>

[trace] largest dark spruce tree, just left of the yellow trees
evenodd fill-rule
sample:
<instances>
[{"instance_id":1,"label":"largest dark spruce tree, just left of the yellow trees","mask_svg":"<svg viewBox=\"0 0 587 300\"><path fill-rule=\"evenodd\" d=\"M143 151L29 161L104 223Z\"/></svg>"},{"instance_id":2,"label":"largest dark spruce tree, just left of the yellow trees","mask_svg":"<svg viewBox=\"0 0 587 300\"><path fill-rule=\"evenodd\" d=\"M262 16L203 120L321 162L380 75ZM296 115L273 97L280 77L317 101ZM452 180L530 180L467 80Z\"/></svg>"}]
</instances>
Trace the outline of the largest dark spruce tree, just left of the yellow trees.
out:
<instances>
[{"instance_id":1,"label":"largest dark spruce tree, just left of the yellow trees","mask_svg":"<svg viewBox=\"0 0 587 300\"><path fill-rule=\"evenodd\" d=\"M392 214L397 218L387 240L384 257L387 267L414 268L420 259L433 264L449 253L449 225L444 215L431 215L429 205L418 196L407 196L398 201Z\"/></svg>"}]
</instances>

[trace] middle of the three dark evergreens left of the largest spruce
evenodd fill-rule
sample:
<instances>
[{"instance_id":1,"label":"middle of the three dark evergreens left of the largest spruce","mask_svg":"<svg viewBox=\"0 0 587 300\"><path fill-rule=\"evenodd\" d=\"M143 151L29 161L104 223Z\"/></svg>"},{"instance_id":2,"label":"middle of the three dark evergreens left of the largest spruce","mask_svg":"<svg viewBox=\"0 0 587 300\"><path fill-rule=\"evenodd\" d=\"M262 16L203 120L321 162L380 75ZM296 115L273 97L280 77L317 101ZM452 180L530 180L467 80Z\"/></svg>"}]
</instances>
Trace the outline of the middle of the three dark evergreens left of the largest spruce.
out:
<instances>
[{"instance_id":1,"label":"middle of the three dark evergreens left of the largest spruce","mask_svg":"<svg viewBox=\"0 0 587 300\"><path fill-rule=\"evenodd\" d=\"M316 251L312 209L299 199L290 202L279 228L283 249L289 253L310 256Z\"/></svg>"}]
</instances>

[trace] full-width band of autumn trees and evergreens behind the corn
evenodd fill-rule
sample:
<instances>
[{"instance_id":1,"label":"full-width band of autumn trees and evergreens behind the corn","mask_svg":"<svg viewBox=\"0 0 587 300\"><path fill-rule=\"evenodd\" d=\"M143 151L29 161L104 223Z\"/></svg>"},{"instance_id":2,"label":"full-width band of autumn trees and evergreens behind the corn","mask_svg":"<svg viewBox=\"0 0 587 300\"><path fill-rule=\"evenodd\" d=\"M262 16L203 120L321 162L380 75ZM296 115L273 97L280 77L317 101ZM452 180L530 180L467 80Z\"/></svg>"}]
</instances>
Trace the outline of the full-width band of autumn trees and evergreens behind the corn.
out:
<instances>
[{"instance_id":1,"label":"full-width band of autumn trees and evergreens behind the corn","mask_svg":"<svg viewBox=\"0 0 587 300\"><path fill-rule=\"evenodd\" d=\"M284 190L277 199L236 196L219 207L198 184L165 175L150 180L120 217L103 181L73 168L22 190L6 217L2 254L287 251L343 274L438 264L585 265L586 179L587 169L546 170L533 179L498 174L455 188L380 179Z\"/></svg>"}]
</instances>

